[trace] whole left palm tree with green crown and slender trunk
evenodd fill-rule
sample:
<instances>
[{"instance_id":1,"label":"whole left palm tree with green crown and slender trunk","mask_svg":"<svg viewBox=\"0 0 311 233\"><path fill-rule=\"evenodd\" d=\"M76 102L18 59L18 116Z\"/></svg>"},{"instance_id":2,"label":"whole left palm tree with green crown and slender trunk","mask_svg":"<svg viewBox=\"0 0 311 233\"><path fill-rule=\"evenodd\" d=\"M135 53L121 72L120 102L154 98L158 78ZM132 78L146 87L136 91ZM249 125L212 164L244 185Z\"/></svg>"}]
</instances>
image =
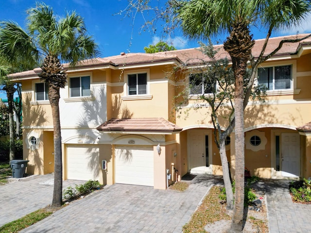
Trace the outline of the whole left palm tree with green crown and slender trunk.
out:
<instances>
[{"instance_id":1,"label":"whole left palm tree with green crown and slender trunk","mask_svg":"<svg viewBox=\"0 0 311 233\"><path fill-rule=\"evenodd\" d=\"M52 108L54 139L54 190L52 206L62 204L62 150L59 117L59 89L67 82L61 62L77 66L84 59L99 55L97 44L86 34L82 17L75 12L56 20L51 7L37 3L28 14L28 32L14 22L3 22L0 31L0 50L14 60L17 50L26 57L42 62L39 77L48 85ZM44 58L44 59L42 59Z\"/></svg>"}]
</instances>

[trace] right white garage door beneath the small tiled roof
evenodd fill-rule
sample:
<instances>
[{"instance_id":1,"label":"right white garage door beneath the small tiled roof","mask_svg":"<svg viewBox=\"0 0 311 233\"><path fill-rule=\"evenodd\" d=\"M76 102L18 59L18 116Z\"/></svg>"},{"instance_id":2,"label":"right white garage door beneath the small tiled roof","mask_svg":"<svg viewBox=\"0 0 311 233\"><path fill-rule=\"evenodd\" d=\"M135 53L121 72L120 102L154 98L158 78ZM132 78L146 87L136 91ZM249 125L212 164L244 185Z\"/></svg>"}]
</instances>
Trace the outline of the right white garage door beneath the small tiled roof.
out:
<instances>
[{"instance_id":1,"label":"right white garage door beneath the small tiled roof","mask_svg":"<svg viewBox=\"0 0 311 233\"><path fill-rule=\"evenodd\" d=\"M116 147L115 166L116 183L154 186L152 147Z\"/></svg>"}]
</instances>

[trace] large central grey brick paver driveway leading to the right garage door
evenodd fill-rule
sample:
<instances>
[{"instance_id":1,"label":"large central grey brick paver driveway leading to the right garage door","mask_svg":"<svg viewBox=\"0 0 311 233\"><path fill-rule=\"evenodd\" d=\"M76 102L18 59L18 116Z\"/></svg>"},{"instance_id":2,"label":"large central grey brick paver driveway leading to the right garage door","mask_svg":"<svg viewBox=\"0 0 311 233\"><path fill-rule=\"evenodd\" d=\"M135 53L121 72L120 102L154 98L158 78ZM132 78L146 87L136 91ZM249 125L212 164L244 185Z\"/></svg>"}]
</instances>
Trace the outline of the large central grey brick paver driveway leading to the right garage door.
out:
<instances>
[{"instance_id":1,"label":"large central grey brick paver driveway leading to the right garage door","mask_svg":"<svg viewBox=\"0 0 311 233\"><path fill-rule=\"evenodd\" d=\"M180 233L211 185L222 179L197 175L189 182L185 192L110 185L21 232Z\"/></svg>"}]
</instances>

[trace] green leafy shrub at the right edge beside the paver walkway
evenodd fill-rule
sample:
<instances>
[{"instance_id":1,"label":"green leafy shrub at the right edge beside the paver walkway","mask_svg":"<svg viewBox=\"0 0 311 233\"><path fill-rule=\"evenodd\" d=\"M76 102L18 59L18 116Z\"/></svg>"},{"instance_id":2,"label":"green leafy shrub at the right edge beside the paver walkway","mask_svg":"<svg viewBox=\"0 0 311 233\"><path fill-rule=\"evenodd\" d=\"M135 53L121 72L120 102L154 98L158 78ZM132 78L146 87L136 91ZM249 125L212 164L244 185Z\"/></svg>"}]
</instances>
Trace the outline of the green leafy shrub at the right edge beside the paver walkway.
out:
<instances>
[{"instance_id":1,"label":"green leafy shrub at the right edge beside the paver walkway","mask_svg":"<svg viewBox=\"0 0 311 233\"><path fill-rule=\"evenodd\" d=\"M311 204L311 180L291 182L290 194L294 202Z\"/></svg>"}]
</instances>

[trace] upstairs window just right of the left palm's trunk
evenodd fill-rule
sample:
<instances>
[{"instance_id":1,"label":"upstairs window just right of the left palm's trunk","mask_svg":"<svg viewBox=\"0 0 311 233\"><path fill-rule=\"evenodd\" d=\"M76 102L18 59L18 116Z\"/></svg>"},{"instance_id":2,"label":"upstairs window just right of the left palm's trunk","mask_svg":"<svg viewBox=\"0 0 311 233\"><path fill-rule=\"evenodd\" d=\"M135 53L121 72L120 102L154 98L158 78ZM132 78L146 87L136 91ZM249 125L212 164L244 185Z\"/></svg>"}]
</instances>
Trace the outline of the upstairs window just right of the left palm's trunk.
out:
<instances>
[{"instance_id":1,"label":"upstairs window just right of the left palm's trunk","mask_svg":"<svg viewBox=\"0 0 311 233\"><path fill-rule=\"evenodd\" d=\"M90 77L70 78L70 97L90 96Z\"/></svg>"}]
</instances>

